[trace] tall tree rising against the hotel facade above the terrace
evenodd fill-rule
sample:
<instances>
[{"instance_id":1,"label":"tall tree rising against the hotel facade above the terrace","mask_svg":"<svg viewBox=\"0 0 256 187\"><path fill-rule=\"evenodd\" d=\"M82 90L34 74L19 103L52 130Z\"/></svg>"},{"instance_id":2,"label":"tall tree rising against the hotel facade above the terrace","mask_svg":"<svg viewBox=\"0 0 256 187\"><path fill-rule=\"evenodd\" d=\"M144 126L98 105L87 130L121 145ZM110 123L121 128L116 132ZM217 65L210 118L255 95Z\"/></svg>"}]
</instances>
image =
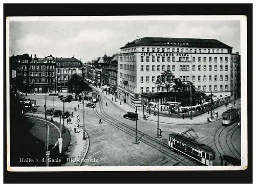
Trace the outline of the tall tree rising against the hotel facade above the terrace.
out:
<instances>
[{"instance_id":1,"label":"tall tree rising against the hotel facade above the terrace","mask_svg":"<svg viewBox=\"0 0 256 187\"><path fill-rule=\"evenodd\" d=\"M157 87L162 87L166 89L166 92L168 92L170 91L170 88L173 88L174 81L175 81L174 74L171 71L166 70L162 72L161 75L157 76L155 85Z\"/></svg>"}]
</instances>

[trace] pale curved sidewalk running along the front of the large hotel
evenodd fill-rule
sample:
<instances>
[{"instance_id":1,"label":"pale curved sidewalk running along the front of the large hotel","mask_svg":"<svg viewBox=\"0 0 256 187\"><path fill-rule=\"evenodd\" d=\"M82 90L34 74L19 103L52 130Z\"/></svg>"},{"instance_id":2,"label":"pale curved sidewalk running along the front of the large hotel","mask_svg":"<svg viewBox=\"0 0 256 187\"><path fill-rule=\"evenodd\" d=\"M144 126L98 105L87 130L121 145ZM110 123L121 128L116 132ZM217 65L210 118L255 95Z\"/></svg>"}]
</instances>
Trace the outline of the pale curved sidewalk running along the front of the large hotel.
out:
<instances>
[{"instance_id":1,"label":"pale curved sidewalk running along the front of the large hotel","mask_svg":"<svg viewBox=\"0 0 256 187\"><path fill-rule=\"evenodd\" d=\"M91 87L94 89L94 90L97 90L99 91L99 93L101 93L102 96L106 97L108 100L110 100L113 104L115 104L116 106L118 106L119 108L121 108L124 113L127 112L127 111L132 111L132 112L135 112L135 109L132 108L131 106L127 105L126 103L123 103L122 101L120 101L118 98L115 102L115 96L113 96L112 94L109 95L106 95L105 94L105 91L102 92L102 88L98 88L98 87L95 87L93 85L91 85ZM113 98L113 101L112 101L112 98ZM121 102L121 105L120 105L120 102ZM238 99L236 100L236 108L239 108L241 105L241 99ZM209 123L212 123L212 122L215 122L216 120L219 120L221 119L221 116L222 116L222 113L225 112L227 109L224 106L222 107L219 107L217 109L215 109L214 111L215 112L218 112L218 118L215 118L213 119L211 122ZM143 111L142 110L138 110L137 111L138 113L138 116L139 118L142 118L143 119ZM145 112L146 114L146 112ZM159 116L159 122L160 123L167 123L167 124L180 124L180 125L184 125L184 124L194 124L194 125L199 125L199 124L207 124L207 117L210 117L210 114L208 114L207 112L202 114L202 115L199 115L199 116L196 116L196 117L193 117L193 120L190 120L189 118L185 118L184 120L181 118L169 118L169 117L165 117L165 116ZM150 120L150 121L157 121L157 115L154 116L152 113L150 116L148 116L148 118L146 120Z\"/></svg>"}]
</instances>

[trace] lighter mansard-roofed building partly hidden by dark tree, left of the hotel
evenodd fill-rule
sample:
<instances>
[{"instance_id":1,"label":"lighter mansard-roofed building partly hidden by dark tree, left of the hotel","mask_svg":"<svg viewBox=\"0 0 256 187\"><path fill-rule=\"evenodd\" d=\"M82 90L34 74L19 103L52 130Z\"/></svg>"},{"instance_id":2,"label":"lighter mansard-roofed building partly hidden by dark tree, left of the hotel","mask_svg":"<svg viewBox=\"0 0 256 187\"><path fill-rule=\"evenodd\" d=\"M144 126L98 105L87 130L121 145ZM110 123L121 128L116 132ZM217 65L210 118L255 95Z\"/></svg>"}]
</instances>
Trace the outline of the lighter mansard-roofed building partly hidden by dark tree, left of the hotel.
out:
<instances>
[{"instance_id":1,"label":"lighter mansard-roofed building partly hidden by dark tree, left of the hotel","mask_svg":"<svg viewBox=\"0 0 256 187\"><path fill-rule=\"evenodd\" d=\"M56 58L56 90L67 92L67 82L74 74L82 74L82 62L76 58Z\"/></svg>"}]
</instances>

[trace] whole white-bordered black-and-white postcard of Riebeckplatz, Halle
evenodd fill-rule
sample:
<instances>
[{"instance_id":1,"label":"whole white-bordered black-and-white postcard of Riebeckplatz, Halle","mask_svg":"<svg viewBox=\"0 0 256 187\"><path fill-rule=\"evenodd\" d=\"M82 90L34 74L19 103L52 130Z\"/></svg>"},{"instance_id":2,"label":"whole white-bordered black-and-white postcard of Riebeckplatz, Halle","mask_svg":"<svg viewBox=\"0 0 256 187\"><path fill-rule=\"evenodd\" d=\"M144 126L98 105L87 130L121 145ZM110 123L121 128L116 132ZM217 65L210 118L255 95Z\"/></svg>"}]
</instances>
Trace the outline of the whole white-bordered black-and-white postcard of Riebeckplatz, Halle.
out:
<instances>
[{"instance_id":1,"label":"whole white-bordered black-and-white postcard of Riebeckplatz, Halle","mask_svg":"<svg viewBox=\"0 0 256 187\"><path fill-rule=\"evenodd\" d=\"M8 17L9 171L245 170L245 16Z\"/></svg>"}]
</instances>

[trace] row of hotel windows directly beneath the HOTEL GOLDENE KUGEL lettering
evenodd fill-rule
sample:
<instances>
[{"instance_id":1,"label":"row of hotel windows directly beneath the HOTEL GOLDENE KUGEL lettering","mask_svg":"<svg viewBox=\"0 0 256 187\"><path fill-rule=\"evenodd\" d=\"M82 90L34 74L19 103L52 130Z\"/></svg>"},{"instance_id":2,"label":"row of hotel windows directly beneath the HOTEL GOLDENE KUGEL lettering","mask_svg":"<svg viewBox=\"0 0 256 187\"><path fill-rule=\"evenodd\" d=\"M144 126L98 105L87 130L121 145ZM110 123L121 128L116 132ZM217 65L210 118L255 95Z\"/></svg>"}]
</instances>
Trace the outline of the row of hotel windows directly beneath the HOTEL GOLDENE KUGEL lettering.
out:
<instances>
[{"instance_id":1,"label":"row of hotel windows directly beneath the HOTEL GOLDENE KUGEL lettering","mask_svg":"<svg viewBox=\"0 0 256 187\"><path fill-rule=\"evenodd\" d=\"M160 57L157 56L157 62L160 62ZM165 62L166 57L162 57L161 62ZM231 57L231 62L232 62L232 57ZM152 56L152 62L156 61L156 57ZM144 56L140 57L140 61L144 62ZM146 56L146 62L150 61L150 56ZM176 61L176 57L172 57L172 62ZM170 57L167 57L167 62L170 62ZM189 62L189 57L179 57L178 62ZM196 57L192 57L192 62L196 62ZM198 62L201 62L201 57L198 57ZM206 62L206 57L203 57L203 62ZM212 57L208 57L208 62L212 62ZM218 62L218 58L214 57L214 62ZM223 57L220 57L220 62L223 62ZM225 62L228 62L228 57L225 57Z\"/></svg>"}]
</instances>

